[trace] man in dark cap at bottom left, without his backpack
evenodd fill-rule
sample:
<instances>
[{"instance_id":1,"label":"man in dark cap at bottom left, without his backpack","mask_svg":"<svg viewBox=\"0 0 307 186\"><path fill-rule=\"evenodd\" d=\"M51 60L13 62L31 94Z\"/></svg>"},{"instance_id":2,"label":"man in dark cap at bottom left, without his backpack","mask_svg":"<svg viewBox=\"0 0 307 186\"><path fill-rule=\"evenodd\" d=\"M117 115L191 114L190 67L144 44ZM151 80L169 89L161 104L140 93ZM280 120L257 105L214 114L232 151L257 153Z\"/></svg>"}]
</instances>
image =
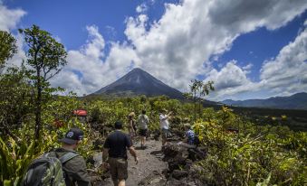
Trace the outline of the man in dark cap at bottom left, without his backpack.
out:
<instances>
[{"instance_id":1,"label":"man in dark cap at bottom left, without his backpack","mask_svg":"<svg viewBox=\"0 0 307 186\"><path fill-rule=\"evenodd\" d=\"M72 159L62 164L62 170L65 172L65 183L67 186L91 186L91 178L86 171L86 163L84 158L75 150L81 143L83 132L79 128L71 128L64 138L59 141L62 142L62 147L55 149L53 152L56 157L61 158L67 153L75 153Z\"/></svg>"}]
</instances>

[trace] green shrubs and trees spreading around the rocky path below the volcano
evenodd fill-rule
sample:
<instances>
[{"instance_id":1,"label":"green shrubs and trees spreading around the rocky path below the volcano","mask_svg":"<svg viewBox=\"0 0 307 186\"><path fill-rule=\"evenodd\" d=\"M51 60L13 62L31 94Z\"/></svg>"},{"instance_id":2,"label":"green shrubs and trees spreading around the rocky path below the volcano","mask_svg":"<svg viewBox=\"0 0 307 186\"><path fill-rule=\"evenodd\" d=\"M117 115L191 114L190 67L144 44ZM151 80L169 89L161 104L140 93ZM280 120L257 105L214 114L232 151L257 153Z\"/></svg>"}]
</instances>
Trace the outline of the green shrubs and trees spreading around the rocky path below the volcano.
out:
<instances>
[{"instance_id":1,"label":"green shrubs and trees spreading around the rocky path below the volcano","mask_svg":"<svg viewBox=\"0 0 307 186\"><path fill-rule=\"evenodd\" d=\"M106 129L116 120L127 125L130 111L139 115L146 109L151 121L149 130L154 131L159 128L158 112L162 108L173 111L170 123L178 135L183 134L184 123L193 121L191 124L206 150L206 158L197 166L201 168L199 177L207 184L307 184L306 132L293 132L273 118L264 120L261 126L255 125L227 107L216 111L195 102L183 103L163 96L114 99L81 99L72 93L54 96L61 88L51 88L48 79L65 65L62 44L36 26L24 29L23 34L29 44L27 65L8 68L0 75L0 185L19 185L28 163L58 147L57 139L72 126L85 132L79 152L89 160L96 152L94 142L103 140ZM34 40L46 41L34 47L39 43ZM13 46L14 40L9 43ZM53 50L57 52L48 53ZM9 55L5 54L4 59L14 52L15 47L8 49ZM207 84L207 90L212 90L211 86ZM89 113L86 122L72 113L81 108ZM280 117L283 123L287 122L286 116ZM93 168L91 163L88 166Z\"/></svg>"}]
</instances>

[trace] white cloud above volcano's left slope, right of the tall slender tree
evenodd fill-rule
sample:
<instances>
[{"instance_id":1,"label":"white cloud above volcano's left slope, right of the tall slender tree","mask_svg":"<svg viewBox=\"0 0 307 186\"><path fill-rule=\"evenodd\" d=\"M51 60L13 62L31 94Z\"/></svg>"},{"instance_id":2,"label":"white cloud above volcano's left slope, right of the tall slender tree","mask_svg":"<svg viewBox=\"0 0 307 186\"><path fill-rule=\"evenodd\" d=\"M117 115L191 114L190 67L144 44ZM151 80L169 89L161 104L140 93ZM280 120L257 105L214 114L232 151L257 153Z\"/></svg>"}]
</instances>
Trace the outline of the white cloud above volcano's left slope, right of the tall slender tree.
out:
<instances>
[{"instance_id":1,"label":"white cloud above volcano's left slope, right of the tall slender tree","mask_svg":"<svg viewBox=\"0 0 307 186\"><path fill-rule=\"evenodd\" d=\"M124 75L131 61L138 61L132 49L116 42L112 43L109 56L103 58L105 41L98 27L87 26L87 31L87 43L78 51L68 51L68 64L51 80L53 87L67 88L78 95L89 94Z\"/></svg>"}]
</instances>

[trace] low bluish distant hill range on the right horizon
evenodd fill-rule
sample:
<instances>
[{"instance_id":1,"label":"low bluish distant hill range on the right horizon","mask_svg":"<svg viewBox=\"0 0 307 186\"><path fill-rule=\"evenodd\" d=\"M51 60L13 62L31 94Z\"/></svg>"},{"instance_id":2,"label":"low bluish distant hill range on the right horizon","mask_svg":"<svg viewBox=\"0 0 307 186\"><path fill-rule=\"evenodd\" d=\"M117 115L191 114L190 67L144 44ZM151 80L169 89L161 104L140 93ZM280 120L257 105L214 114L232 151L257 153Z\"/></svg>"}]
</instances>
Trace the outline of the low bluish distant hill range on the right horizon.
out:
<instances>
[{"instance_id":1,"label":"low bluish distant hill range on the right horizon","mask_svg":"<svg viewBox=\"0 0 307 186\"><path fill-rule=\"evenodd\" d=\"M305 109L307 110L307 93L297 93L290 97L273 97L267 99L247 99L235 101L226 99L225 105L236 107L267 107L280 109Z\"/></svg>"}]
</instances>

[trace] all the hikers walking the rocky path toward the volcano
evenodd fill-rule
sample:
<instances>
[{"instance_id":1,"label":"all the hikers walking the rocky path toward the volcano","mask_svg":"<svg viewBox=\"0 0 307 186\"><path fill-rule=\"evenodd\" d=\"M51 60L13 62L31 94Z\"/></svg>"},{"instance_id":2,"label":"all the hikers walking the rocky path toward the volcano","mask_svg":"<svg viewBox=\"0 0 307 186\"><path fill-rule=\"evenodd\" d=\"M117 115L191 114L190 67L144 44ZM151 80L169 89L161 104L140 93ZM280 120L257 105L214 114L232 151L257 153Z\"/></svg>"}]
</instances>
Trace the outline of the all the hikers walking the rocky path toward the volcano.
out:
<instances>
[{"instance_id":1,"label":"all the hikers walking the rocky path toward the volcano","mask_svg":"<svg viewBox=\"0 0 307 186\"><path fill-rule=\"evenodd\" d=\"M135 139L137 130L140 135L140 147L144 149L146 147L146 138L149 132L149 116L146 115L146 110L142 110L138 116L138 120L134 119L135 114L133 112L128 116L128 128L129 133L123 132L123 124L120 121L115 122L115 131L110 133L103 144L102 151L102 166L104 169L110 170L111 179L114 186L124 186L125 181L128 178L128 155L127 150L133 156L135 163L139 163L138 154L133 147L133 140ZM172 116L172 112L168 112L166 109L162 109L159 114L160 131L162 135L162 148L167 144L169 132L168 119ZM137 128L136 123L139 124ZM186 135L185 142L187 144L193 144L195 134L188 124L185 124ZM38 185L78 185L78 186L90 186L91 177L89 176L86 163L82 155L76 152L76 149L81 144L83 138L83 132L79 128L71 128L65 136L59 141L62 143L62 147L53 150L50 153L44 153L42 157L34 160L30 164L28 171L24 176L24 186L38 186ZM60 165L54 166L54 163L60 163ZM52 182L49 184L46 177L46 170L55 172L59 167L62 171L56 173L53 176ZM62 176L62 175L63 176ZM47 175L48 176L48 175ZM61 184L60 184L61 183Z\"/></svg>"}]
</instances>

